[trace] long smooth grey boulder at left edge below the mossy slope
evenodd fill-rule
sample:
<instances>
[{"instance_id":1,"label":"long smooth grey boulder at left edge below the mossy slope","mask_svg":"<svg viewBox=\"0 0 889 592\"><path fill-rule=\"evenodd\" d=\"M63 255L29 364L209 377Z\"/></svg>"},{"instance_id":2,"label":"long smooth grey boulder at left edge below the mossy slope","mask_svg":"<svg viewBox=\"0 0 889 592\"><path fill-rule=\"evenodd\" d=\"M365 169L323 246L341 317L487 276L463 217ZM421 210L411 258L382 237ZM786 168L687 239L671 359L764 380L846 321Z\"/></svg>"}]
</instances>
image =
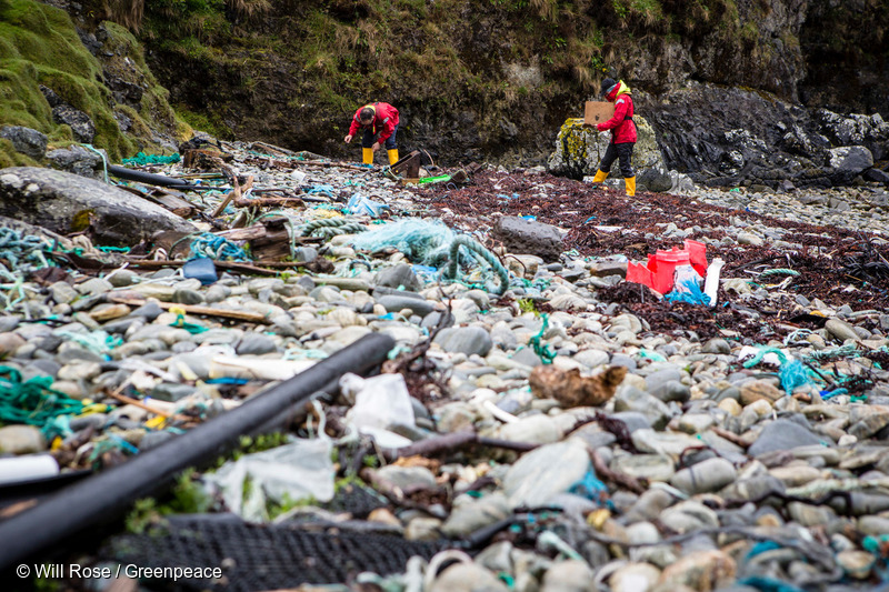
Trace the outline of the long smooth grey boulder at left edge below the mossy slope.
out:
<instances>
[{"instance_id":1,"label":"long smooth grey boulder at left edge below the mossy slope","mask_svg":"<svg viewBox=\"0 0 889 592\"><path fill-rule=\"evenodd\" d=\"M117 187L37 167L0 169L0 215L60 234L89 225L93 240L107 245L132 245L159 230L197 230L160 205Z\"/></svg>"}]
</instances>

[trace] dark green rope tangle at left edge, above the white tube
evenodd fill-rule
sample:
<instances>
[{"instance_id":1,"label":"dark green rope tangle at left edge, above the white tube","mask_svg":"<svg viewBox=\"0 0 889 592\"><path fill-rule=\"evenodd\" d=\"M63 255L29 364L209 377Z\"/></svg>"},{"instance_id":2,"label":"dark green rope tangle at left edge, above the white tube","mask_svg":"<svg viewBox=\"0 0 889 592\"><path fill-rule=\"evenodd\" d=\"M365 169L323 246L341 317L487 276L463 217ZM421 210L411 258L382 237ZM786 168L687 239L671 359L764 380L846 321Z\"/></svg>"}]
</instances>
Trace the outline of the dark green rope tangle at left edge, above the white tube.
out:
<instances>
[{"instance_id":1,"label":"dark green rope tangle at left edge, above the white tube","mask_svg":"<svg viewBox=\"0 0 889 592\"><path fill-rule=\"evenodd\" d=\"M0 367L0 421L46 427L62 414L77 414L83 403L60 391L50 389L51 377L34 377L21 381L21 373L11 367Z\"/></svg>"}]
</instances>

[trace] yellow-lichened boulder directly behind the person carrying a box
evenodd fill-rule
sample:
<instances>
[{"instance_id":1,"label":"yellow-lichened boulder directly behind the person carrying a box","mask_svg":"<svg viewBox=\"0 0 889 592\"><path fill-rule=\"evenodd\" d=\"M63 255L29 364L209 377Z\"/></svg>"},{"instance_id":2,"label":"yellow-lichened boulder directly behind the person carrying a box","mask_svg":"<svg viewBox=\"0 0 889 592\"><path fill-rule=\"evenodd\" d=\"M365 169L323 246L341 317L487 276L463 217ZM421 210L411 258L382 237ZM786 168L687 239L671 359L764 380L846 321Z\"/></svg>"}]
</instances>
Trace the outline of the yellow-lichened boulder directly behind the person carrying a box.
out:
<instances>
[{"instance_id":1,"label":"yellow-lichened boulder directly behind the person carrying a box","mask_svg":"<svg viewBox=\"0 0 889 592\"><path fill-rule=\"evenodd\" d=\"M665 169L663 157L655 138L655 129L643 117L633 116L636 122L637 141L632 153L635 171L647 169ZM556 139L556 151L547 162L547 169L552 174L582 179L596 174L599 162L611 142L611 132L598 132L596 128L583 126L582 119L568 119L559 130ZM619 163L611 168L615 175L619 175Z\"/></svg>"}]
</instances>

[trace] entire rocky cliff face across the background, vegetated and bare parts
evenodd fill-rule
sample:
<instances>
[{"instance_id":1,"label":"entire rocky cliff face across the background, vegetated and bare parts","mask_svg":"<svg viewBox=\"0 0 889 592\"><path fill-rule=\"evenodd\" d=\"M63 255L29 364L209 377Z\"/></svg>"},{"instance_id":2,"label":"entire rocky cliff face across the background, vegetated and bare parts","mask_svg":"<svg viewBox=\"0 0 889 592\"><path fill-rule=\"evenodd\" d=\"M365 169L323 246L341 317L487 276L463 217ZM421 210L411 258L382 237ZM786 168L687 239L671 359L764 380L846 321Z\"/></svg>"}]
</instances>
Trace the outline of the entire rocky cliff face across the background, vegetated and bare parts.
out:
<instances>
[{"instance_id":1,"label":"entire rocky cliff face across the background, vegetated and bare parts","mask_svg":"<svg viewBox=\"0 0 889 592\"><path fill-rule=\"evenodd\" d=\"M83 12L120 17L108 4ZM879 0L220 0L147 3L140 30L171 102L223 137L354 155L341 141L351 113L383 100L402 113L403 148L538 164L610 74L638 91L668 165L715 183L830 184L848 174L816 169L843 144L818 110L889 117L878 22Z\"/></svg>"}]
</instances>

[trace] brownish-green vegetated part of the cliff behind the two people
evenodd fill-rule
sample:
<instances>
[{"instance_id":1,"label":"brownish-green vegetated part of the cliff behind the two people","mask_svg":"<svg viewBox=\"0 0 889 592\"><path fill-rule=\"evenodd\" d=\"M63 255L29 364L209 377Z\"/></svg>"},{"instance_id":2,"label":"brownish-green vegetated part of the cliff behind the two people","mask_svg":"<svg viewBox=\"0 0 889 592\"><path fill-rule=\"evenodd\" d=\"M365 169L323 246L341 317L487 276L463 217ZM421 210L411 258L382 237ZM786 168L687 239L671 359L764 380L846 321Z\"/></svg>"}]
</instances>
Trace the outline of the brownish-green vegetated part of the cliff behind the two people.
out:
<instances>
[{"instance_id":1,"label":"brownish-green vegetated part of the cliff behind the two people","mask_svg":"<svg viewBox=\"0 0 889 592\"><path fill-rule=\"evenodd\" d=\"M733 0L289 0L250 18L238 3L250 2L150 2L152 68L218 134L327 153L367 100L397 104L407 139L451 155L461 143L549 149L541 128L555 134L601 78L626 76L670 31L725 21L740 39Z\"/></svg>"}]
</instances>

